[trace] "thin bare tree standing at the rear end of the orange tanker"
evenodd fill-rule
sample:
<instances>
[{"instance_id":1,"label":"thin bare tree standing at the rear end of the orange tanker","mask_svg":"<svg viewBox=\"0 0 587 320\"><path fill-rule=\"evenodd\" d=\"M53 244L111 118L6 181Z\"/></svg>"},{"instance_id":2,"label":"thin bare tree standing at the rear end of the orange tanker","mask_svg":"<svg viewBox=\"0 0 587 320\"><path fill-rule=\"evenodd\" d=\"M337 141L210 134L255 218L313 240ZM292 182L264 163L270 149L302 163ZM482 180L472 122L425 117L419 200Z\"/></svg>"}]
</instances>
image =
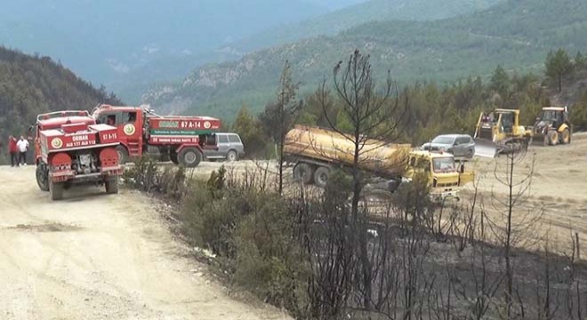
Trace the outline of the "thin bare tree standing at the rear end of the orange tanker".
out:
<instances>
[{"instance_id":1,"label":"thin bare tree standing at the rear end of the orange tanker","mask_svg":"<svg viewBox=\"0 0 587 320\"><path fill-rule=\"evenodd\" d=\"M284 69L279 77L277 100L270 102L259 116L263 130L266 131L277 147L279 194L283 193L284 185L285 134L294 125L296 115L302 108L302 100L297 100L299 87L300 84L294 83L292 80L292 69L289 61L286 60Z\"/></svg>"}]
</instances>

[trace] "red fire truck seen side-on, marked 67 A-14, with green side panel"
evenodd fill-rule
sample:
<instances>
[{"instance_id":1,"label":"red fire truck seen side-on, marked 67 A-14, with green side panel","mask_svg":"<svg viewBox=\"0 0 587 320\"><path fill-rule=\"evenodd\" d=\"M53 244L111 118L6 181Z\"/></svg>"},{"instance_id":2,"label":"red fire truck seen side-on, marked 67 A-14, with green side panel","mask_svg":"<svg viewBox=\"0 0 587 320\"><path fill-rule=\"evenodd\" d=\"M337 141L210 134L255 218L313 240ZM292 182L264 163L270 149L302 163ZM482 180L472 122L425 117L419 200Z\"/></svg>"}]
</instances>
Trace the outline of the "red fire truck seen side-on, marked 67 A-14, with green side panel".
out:
<instances>
[{"instance_id":1,"label":"red fire truck seen side-on, marked 67 A-14, with green side panel","mask_svg":"<svg viewBox=\"0 0 587 320\"><path fill-rule=\"evenodd\" d=\"M213 132L221 121L209 116L158 116L147 107L100 105L92 116L99 124L117 127L121 163L129 156L157 156L174 164L195 167L206 148L217 148Z\"/></svg>"}]
</instances>

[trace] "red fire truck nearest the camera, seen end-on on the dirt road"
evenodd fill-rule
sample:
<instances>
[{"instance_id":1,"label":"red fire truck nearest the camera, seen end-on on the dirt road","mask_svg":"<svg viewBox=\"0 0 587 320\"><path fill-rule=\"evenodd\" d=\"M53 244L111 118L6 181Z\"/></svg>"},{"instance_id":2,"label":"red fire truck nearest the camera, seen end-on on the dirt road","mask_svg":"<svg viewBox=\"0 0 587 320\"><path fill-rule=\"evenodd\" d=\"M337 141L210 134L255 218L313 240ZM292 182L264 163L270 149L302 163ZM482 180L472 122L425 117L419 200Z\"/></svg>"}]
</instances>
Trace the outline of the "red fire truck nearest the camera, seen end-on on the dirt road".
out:
<instances>
[{"instance_id":1,"label":"red fire truck nearest the camera, seen end-on on the dirt road","mask_svg":"<svg viewBox=\"0 0 587 320\"><path fill-rule=\"evenodd\" d=\"M104 184L118 193L117 128L96 124L87 111L59 111L36 117L36 183L60 200L76 184Z\"/></svg>"}]
</instances>

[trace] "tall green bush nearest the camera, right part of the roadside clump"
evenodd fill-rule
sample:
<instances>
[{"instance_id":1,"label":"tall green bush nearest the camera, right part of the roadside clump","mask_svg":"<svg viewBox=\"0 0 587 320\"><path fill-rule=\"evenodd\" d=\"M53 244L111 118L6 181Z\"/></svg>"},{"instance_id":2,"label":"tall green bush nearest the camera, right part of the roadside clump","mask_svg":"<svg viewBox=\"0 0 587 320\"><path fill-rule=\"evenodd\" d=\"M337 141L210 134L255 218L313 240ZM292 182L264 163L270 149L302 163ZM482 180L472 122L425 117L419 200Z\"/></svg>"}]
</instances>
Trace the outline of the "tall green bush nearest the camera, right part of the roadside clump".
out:
<instances>
[{"instance_id":1,"label":"tall green bush nearest the camera, right part of the roadside clump","mask_svg":"<svg viewBox=\"0 0 587 320\"><path fill-rule=\"evenodd\" d=\"M294 238L294 208L277 194L258 194L254 214L237 229L235 281L267 302L300 313L306 271Z\"/></svg>"}]
</instances>

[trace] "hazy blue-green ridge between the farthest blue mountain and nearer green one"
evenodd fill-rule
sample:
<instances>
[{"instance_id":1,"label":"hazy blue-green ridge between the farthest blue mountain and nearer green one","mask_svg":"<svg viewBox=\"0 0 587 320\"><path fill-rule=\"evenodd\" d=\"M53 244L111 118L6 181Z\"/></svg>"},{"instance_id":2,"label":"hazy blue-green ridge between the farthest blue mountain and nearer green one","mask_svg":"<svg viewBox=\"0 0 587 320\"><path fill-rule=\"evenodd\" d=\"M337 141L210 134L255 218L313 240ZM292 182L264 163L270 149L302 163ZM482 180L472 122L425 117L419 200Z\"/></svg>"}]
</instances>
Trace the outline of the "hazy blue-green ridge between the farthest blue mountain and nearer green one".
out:
<instances>
[{"instance_id":1,"label":"hazy blue-green ridge between the farthest blue mountain and nearer green one","mask_svg":"<svg viewBox=\"0 0 587 320\"><path fill-rule=\"evenodd\" d=\"M440 20L478 12L502 0L369 0L335 12L281 28L270 28L231 46L250 51L312 36L334 36L366 22L389 20Z\"/></svg>"}]
</instances>

